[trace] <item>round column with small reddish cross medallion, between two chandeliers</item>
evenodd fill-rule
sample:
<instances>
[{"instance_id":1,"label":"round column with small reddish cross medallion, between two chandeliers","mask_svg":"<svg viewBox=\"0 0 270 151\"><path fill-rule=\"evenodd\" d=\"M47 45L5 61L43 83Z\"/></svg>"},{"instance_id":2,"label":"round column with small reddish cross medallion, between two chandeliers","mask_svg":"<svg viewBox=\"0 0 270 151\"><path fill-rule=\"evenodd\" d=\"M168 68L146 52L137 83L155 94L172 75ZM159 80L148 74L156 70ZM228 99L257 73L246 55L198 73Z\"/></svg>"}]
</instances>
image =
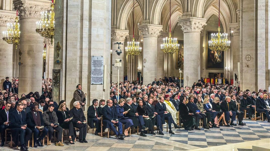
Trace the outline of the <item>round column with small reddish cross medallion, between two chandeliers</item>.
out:
<instances>
[{"instance_id":1,"label":"round column with small reddish cross medallion, between two chandeliers","mask_svg":"<svg viewBox=\"0 0 270 151\"><path fill-rule=\"evenodd\" d=\"M143 84L148 85L157 78L157 36L162 31L162 25L140 25L143 35Z\"/></svg>"}]
</instances>

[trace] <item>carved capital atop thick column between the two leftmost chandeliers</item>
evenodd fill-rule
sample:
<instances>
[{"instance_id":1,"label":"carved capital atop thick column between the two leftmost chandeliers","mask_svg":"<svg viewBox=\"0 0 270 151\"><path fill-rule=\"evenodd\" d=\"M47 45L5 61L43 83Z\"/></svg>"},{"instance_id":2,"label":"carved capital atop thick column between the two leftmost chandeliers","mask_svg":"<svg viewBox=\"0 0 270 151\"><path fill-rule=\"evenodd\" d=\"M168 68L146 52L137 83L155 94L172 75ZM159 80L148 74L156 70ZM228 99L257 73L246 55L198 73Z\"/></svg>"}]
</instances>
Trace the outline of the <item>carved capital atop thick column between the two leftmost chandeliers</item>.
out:
<instances>
[{"instance_id":1,"label":"carved capital atop thick column between the two leftmost chandeliers","mask_svg":"<svg viewBox=\"0 0 270 151\"><path fill-rule=\"evenodd\" d=\"M20 18L40 18L40 12L50 10L50 5L42 4L19 4L14 9L18 9Z\"/></svg>"}]
</instances>

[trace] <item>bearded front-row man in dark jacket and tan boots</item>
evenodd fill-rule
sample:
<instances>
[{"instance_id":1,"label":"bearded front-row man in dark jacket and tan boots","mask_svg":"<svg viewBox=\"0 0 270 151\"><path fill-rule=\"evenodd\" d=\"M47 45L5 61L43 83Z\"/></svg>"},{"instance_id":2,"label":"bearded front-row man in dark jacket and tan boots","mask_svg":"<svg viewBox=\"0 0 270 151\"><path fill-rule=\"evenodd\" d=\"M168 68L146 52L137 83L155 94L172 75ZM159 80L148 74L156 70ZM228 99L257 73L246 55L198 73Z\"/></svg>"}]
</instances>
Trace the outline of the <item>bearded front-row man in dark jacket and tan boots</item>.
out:
<instances>
[{"instance_id":1,"label":"bearded front-row man in dark jacket and tan boots","mask_svg":"<svg viewBox=\"0 0 270 151\"><path fill-rule=\"evenodd\" d=\"M49 129L49 133L48 133L49 145L51 145L53 130L56 130L58 132L58 135L57 135L57 142L55 146L64 146L64 144L62 143L63 128L59 125L58 118L56 116L55 111L53 110L54 110L54 105L50 104L48 109L42 114L44 124Z\"/></svg>"}]
</instances>

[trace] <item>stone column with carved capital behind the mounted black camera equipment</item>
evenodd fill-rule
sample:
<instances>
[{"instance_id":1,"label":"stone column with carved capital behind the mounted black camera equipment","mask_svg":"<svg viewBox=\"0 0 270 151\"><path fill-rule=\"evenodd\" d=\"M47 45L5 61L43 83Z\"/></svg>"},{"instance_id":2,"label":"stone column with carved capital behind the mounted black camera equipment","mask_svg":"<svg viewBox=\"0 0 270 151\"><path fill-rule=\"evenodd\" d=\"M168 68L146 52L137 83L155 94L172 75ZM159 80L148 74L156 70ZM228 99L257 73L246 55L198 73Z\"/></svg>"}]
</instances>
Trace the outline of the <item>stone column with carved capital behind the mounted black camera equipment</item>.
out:
<instances>
[{"instance_id":1,"label":"stone column with carved capital behind the mounted black camera equipment","mask_svg":"<svg viewBox=\"0 0 270 151\"><path fill-rule=\"evenodd\" d=\"M119 68L119 82L124 80L124 69L125 69L125 66L124 66L124 58L125 58L125 45L124 45L124 42L125 42L125 38L126 36L129 35L129 31L126 31L126 30L113 30L111 32L111 40L112 40L112 64L115 63L115 59L121 59L122 60L122 67ZM114 44L116 42L121 42L123 43L123 45L119 45L122 50L122 53L119 55L116 54L116 50L117 51L120 51L118 49L118 44ZM116 67L112 67L112 82L116 83L118 80L118 72L117 72L117 68Z\"/></svg>"}]
</instances>

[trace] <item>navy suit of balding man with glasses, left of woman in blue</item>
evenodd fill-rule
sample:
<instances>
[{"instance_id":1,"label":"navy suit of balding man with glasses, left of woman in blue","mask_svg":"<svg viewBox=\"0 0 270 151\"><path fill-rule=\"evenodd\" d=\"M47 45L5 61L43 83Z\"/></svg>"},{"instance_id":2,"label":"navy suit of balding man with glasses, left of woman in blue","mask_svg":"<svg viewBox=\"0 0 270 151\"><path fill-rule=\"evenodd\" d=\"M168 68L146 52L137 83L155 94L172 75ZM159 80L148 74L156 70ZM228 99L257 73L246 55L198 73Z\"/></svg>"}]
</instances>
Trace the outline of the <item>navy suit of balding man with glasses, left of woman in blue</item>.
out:
<instances>
[{"instance_id":1,"label":"navy suit of balding man with glasses, left of woman in blue","mask_svg":"<svg viewBox=\"0 0 270 151\"><path fill-rule=\"evenodd\" d=\"M109 108L108 105L105 105L102 108L102 114L104 118L104 122L110 125L110 129L116 134L116 136L119 136L120 134L123 134L123 128L122 123L118 121L118 123L115 123L115 125L118 127L118 132L113 126L112 120L116 120L118 118L116 108L115 106L112 106Z\"/></svg>"}]
</instances>

